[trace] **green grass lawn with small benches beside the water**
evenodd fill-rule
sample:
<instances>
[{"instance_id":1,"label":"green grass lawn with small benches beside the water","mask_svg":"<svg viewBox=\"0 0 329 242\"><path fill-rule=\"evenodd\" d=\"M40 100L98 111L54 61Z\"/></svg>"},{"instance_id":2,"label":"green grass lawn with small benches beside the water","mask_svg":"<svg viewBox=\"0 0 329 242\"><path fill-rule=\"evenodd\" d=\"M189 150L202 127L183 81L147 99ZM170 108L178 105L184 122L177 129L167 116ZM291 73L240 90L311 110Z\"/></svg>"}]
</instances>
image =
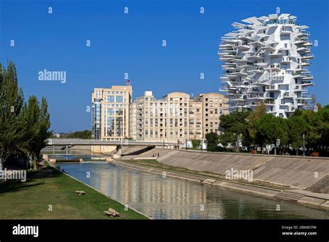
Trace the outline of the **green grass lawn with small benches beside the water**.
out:
<instances>
[{"instance_id":1,"label":"green grass lawn with small benches beside the water","mask_svg":"<svg viewBox=\"0 0 329 242\"><path fill-rule=\"evenodd\" d=\"M0 183L0 219L146 219L54 168L28 172L27 177L26 182ZM76 190L85 195L77 195ZM120 217L107 216L103 211L109 207Z\"/></svg>"}]
</instances>

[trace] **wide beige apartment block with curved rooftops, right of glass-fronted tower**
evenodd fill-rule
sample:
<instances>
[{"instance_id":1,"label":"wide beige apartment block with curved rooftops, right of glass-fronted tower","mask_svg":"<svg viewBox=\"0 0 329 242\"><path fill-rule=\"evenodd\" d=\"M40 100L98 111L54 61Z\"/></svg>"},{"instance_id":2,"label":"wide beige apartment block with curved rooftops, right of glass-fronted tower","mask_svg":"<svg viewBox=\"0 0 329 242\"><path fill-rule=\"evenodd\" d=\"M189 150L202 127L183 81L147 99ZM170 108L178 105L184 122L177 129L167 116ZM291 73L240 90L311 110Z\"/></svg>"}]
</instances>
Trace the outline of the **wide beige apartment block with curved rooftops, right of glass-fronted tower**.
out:
<instances>
[{"instance_id":1,"label":"wide beige apartment block with curved rooftops, right of glass-fronted tower","mask_svg":"<svg viewBox=\"0 0 329 242\"><path fill-rule=\"evenodd\" d=\"M220 134L219 116L228 113L225 96L219 93L201 94L191 98L185 92L171 92L156 100L151 91L136 100L137 140L184 142L202 139L205 134ZM131 127L131 126L130 126Z\"/></svg>"}]
</instances>

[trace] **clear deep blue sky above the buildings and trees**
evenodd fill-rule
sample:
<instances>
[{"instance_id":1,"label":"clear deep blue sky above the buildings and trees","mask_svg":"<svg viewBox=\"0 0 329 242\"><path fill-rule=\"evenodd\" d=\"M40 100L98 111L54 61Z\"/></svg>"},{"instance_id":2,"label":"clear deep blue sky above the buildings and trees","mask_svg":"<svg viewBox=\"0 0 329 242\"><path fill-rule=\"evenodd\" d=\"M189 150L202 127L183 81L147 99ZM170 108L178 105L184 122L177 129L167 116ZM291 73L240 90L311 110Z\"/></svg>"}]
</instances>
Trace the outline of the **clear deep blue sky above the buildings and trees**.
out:
<instances>
[{"instance_id":1,"label":"clear deep blue sky above the buildings and trees","mask_svg":"<svg viewBox=\"0 0 329 242\"><path fill-rule=\"evenodd\" d=\"M133 99L145 90L158 99L178 90L217 92L221 36L233 30L233 22L276 13L277 8L310 26L310 40L318 40L310 67L316 86L310 92L328 104L327 0L0 0L0 62L15 62L26 97L47 97L54 131L90 129L86 106L93 88L125 85L126 72ZM66 71L67 82L39 81L38 72L44 69Z\"/></svg>"}]
</instances>

